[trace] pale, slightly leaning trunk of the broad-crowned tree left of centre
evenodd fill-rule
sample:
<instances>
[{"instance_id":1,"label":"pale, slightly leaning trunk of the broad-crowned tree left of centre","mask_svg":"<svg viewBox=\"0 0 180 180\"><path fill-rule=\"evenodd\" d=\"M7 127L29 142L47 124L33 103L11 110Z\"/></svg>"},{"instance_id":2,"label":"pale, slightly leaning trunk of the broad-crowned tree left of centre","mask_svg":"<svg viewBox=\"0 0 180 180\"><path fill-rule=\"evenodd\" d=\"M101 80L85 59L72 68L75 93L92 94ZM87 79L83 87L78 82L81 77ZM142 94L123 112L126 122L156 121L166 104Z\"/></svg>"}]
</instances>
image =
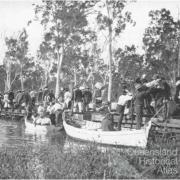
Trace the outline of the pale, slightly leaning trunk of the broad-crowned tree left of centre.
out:
<instances>
[{"instance_id":1,"label":"pale, slightly leaning trunk of the broad-crowned tree left of centre","mask_svg":"<svg viewBox=\"0 0 180 180\"><path fill-rule=\"evenodd\" d=\"M58 51L57 58L58 58L58 67L57 67L57 77L56 77L56 91L55 91L55 98L59 97L60 93L60 73L61 73L61 66L64 56L64 47L61 47L61 53Z\"/></svg>"}]
</instances>

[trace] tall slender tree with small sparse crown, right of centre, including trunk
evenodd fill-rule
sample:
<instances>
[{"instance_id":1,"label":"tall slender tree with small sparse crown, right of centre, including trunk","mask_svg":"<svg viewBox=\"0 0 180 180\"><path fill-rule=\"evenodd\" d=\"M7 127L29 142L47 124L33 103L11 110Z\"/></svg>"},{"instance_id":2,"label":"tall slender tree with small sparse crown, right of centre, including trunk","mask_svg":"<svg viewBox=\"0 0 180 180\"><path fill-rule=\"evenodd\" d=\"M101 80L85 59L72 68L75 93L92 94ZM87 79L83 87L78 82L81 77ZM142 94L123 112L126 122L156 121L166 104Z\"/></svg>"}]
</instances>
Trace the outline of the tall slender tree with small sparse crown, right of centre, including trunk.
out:
<instances>
[{"instance_id":1,"label":"tall slender tree with small sparse crown, right of centre, including trunk","mask_svg":"<svg viewBox=\"0 0 180 180\"><path fill-rule=\"evenodd\" d=\"M100 3L101 10L97 16L97 23L101 31L108 33L108 65L109 65L109 86L108 101L111 101L112 91L112 63L113 63L113 43L120 33L126 28L127 23L134 23L131 19L130 12L124 12L126 0L113 1L103 0ZM102 11L102 9L104 11Z\"/></svg>"}]
</instances>

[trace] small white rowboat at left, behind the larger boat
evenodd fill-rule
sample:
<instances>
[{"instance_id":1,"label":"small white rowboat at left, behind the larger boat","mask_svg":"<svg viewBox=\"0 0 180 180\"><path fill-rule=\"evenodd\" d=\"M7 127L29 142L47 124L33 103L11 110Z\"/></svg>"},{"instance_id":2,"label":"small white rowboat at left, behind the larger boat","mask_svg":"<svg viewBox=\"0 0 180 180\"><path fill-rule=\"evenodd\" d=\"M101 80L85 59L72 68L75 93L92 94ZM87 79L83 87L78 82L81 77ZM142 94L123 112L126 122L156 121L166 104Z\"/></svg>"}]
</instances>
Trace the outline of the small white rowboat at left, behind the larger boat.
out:
<instances>
[{"instance_id":1,"label":"small white rowboat at left, behind the larger boat","mask_svg":"<svg viewBox=\"0 0 180 180\"><path fill-rule=\"evenodd\" d=\"M55 125L36 125L32 121L25 118L25 131L30 134L48 134L57 132L63 129L63 126Z\"/></svg>"}]
</instances>

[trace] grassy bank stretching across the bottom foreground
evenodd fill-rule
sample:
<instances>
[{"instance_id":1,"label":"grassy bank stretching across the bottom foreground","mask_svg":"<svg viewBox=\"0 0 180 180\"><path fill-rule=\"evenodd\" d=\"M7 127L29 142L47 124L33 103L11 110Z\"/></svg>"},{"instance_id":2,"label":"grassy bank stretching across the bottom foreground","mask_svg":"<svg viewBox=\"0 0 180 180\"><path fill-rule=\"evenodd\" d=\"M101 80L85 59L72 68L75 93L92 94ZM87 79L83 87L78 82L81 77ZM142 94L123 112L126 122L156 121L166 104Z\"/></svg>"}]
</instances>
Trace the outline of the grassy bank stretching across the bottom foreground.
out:
<instances>
[{"instance_id":1,"label":"grassy bank stretching across the bottom foreground","mask_svg":"<svg viewBox=\"0 0 180 180\"><path fill-rule=\"evenodd\" d=\"M64 151L62 146L58 145L33 148L26 145L2 147L0 179L120 179L177 178L179 176L178 173L172 175L172 173L159 172L158 174L157 164L143 163L144 159L139 159L140 157L152 159L155 156L148 153L137 154L137 152L139 152L138 149L130 148L111 148L102 151L96 145L88 145L83 149L77 148L76 152L73 151L73 147ZM169 169L170 166L168 166Z\"/></svg>"}]
</instances>

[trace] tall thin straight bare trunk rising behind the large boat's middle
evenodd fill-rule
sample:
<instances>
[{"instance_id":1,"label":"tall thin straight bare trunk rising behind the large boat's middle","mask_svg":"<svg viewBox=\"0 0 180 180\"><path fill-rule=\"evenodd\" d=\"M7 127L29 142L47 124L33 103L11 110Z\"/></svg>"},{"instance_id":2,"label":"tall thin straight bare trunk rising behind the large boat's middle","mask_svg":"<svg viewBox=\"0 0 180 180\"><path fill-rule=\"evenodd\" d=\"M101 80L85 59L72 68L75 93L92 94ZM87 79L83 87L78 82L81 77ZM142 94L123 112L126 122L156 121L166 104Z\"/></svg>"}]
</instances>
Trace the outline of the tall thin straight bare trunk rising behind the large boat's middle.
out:
<instances>
[{"instance_id":1,"label":"tall thin straight bare trunk rising behind the large boat's middle","mask_svg":"<svg viewBox=\"0 0 180 180\"><path fill-rule=\"evenodd\" d=\"M109 6L108 6L108 1L106 3L107 5L107 11L108 11L108 18L110 19L110 10L109 10ZM109 86L108 86L108 102L111 102L111 92L112 92L112 26L111 23L108 24L108 33L109 33L109 49L108 49L108 53L109 53Z\"/></svg>"}]
</instances>

